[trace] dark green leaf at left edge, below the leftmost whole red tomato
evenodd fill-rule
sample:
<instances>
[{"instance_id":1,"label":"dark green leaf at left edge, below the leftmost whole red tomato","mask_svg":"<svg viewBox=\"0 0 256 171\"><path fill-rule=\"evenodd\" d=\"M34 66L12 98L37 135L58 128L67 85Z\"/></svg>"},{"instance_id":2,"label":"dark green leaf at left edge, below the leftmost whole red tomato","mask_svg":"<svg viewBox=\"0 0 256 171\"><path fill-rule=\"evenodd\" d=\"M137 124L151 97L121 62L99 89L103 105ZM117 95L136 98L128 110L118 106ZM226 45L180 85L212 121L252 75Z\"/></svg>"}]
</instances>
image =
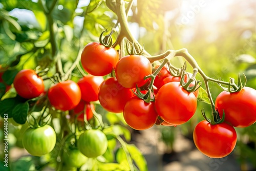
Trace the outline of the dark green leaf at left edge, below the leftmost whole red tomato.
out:
<instances>
[{"instance_id":1,"label":"dark green leaf at left edge, below the leftmost whole red tomato","mask_svg":"<svg viewBox=\"0 0 256 171\"><path fill-rule=\"evenodd\" d=\"M20 100L20 97L14 97L14 98L8 98L8 99L4 99L3 101L0 101L0 106L1 106L1 110L0 110L0 115L1 117L4 117L4 114L8 114L8 118L11 118L13 115L12 111L13 108L19 104L22 103L22 101Z\"/></svg>"}]
</instances>

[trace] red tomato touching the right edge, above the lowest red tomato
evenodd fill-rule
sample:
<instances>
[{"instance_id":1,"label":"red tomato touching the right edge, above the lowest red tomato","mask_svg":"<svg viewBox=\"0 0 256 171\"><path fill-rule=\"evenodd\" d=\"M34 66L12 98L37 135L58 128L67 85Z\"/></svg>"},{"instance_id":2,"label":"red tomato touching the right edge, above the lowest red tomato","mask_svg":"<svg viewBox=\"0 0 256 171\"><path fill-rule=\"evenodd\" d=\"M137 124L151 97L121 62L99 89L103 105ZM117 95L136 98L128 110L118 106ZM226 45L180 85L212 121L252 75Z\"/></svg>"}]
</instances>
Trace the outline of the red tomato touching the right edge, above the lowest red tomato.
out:
<instances>
[{"instance_id":1,"label":"red tomato touching the right edge, above the lowest red tomato","mask_svg":"<svg viewBox=\"0 0 256 171\"><path fill-rule=\"evenodd\" d=\"M240 92L221 92L215 101L220 116L235 127L247 127L256 122L256 90L244 87Z\"/></svg>"}]
</instances>

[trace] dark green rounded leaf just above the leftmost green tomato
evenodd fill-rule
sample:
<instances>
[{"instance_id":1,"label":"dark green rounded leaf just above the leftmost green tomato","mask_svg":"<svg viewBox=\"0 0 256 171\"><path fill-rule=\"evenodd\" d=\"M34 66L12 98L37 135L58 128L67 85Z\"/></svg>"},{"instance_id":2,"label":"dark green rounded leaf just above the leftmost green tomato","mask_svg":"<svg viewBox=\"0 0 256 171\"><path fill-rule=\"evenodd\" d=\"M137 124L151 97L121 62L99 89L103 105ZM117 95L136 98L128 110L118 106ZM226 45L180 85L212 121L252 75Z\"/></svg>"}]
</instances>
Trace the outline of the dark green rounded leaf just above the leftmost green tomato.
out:
<instances>
[{"instance_id":1,"label":"dark green rounded leaf just above the leftmost green tomato","mask_svg":"<svg viewBox=\"0 0 256 171\"><path fill-rule=\"evenodd\" d=\"M24 124L27 119L28 111L29 111L28 102L17 104L12 111L13 120L19 124Z\"/></svg>"}]
</instances>

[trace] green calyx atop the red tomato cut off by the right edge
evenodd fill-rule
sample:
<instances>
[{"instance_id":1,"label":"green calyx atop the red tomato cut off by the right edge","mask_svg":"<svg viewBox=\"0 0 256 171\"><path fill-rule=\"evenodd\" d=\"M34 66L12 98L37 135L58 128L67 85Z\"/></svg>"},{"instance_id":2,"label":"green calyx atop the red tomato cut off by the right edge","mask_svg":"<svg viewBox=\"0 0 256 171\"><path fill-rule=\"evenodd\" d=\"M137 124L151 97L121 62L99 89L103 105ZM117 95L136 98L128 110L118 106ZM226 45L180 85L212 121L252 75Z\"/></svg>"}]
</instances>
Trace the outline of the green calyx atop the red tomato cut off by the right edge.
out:
<instances>
[{"instance_id":1,"label":"green calyx atop the red tomato cut off by the right edge","mask_svg":"<svg viewBox=\"0 0 256 171\"><path fill-rule=\"evenodd\" d=\"M243 74L244 75L244 74ZM234 82L234 78L230 78L229 80L229 85L227 88L221 86L220 83L218 83L218 85L226 92L229 92L229 93L235 93L235 92L240 92L246 85L246 76L244 75L244 83L242 82L241 80L241 76L240 74L238 74L238 84L236 84Z\"/></svg>"}]
</instances>

